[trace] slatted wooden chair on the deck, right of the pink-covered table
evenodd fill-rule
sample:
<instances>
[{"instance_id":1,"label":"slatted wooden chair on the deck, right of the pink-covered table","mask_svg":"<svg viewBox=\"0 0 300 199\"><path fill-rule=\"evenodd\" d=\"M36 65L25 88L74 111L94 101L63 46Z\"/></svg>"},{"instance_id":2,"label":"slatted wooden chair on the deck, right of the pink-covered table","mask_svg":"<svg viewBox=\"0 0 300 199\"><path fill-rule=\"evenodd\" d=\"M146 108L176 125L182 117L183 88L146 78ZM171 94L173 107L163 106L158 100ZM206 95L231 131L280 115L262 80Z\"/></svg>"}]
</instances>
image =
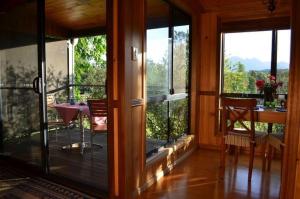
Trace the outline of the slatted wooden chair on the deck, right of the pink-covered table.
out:
<instances>
[{"instance_id":1,"label":"slatted wooden chair on the deck, right of the pink-covered table","mask_svg":"<svg viewBox=\"0 0 300 199\"><path fill-rule=\"evenodd\" d=\"M108 107L106 99L89 99L87 102L90 109L91 150L93 152L94 136L97 133L107 132L106 120Z\"/></svg>"}]
</instances>

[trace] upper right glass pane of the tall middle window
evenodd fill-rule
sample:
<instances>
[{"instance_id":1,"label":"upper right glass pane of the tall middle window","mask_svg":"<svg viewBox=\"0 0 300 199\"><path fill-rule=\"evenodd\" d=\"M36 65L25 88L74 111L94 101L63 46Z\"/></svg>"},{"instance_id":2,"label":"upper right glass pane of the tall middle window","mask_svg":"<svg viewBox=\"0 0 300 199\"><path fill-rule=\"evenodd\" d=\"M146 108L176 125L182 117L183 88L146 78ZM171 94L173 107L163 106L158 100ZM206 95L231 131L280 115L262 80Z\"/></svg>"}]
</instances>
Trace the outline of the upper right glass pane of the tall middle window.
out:
<instances>
[{"instance_id":1,"label":"upper right glass pane of the tall middle window","mask_svg":"<svg viewBox=\"0 0 300 199\"><path fill-rule=\"evenodd\" d=\"M173 87L175 93L187 92L189 79L189 25L174 27Z\"/></svg>"}]
</instances>

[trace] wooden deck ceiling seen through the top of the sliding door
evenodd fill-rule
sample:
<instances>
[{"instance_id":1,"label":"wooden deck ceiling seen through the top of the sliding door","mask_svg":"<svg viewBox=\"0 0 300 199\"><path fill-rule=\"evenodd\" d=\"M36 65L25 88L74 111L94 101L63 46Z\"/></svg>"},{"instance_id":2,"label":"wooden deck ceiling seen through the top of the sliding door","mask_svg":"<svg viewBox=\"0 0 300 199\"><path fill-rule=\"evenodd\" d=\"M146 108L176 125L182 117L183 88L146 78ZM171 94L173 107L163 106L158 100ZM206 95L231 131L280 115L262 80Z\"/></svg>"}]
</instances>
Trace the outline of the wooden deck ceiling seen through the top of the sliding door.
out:
<instances>
[{"instance_id":1,"label":"wooden deck ceiling seen through the top of the sliding door","mask_svg":"<svg viewBox=\"0 0 300 199\"><path fill-rule=\"evenodd\" d=\"M46 0L46 21L68 31L106 26L106 0Z\"/></svg>"}]
</instances>

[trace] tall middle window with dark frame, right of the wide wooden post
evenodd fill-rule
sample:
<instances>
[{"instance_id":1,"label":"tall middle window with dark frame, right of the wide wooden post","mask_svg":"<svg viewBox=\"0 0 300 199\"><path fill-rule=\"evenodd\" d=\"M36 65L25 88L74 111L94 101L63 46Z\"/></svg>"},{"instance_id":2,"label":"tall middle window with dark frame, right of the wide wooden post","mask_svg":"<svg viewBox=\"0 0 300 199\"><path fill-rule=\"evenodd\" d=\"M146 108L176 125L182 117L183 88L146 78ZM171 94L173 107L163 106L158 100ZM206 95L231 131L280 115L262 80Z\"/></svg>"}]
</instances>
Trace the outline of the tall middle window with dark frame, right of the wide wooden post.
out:
<instances>
[{"instance_id":1,"label":"tall middle window with dark frame, right of the wide wooden post","mask_svg":"<svg viewBox=\"0 0 300 199\"><path fill-rule=\"evenodd\" d=\"M190 18L148 0L146 156L188 133ZM154 12L153 6L160 13Z\"/></svg>"}]
</instances>

